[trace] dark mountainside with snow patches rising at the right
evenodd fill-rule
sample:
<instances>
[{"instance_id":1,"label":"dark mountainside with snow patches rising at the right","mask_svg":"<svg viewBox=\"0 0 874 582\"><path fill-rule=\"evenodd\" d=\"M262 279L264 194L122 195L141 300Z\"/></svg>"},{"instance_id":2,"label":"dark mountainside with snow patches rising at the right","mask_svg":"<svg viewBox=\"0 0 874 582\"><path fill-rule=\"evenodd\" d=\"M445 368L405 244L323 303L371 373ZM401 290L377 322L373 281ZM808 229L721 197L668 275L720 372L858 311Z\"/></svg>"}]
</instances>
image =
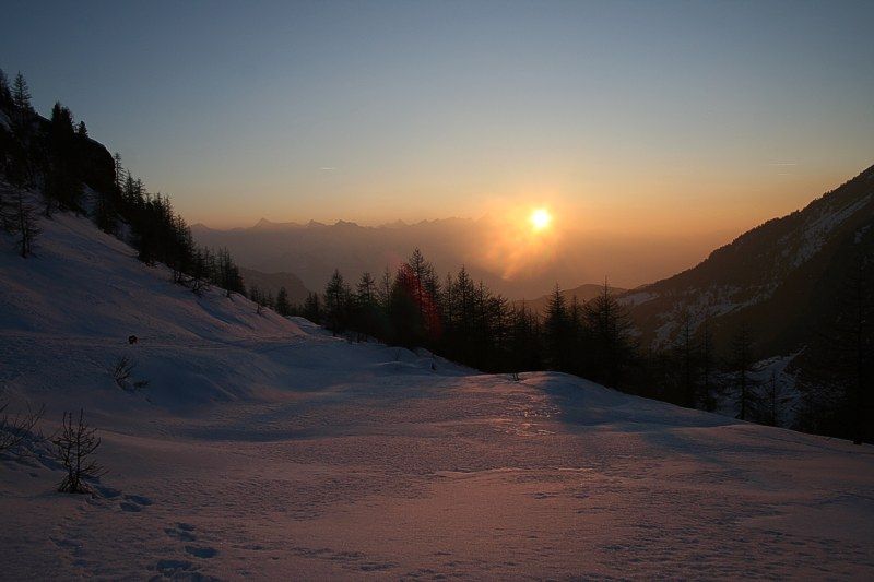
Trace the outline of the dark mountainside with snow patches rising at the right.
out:
<instances>
[{"instance_id":1,"label":"dark mountainside with snow patches rising at the right","mask_svg":"<svg viewBox=\"0 0 874 582\"><path fill-rule=\"evenodd\" d=\"M834 318L855 258L874 257L874 166L805 209L714 250L699 265L623 296L642 343L669 344L709 313L717 340L742 323L763 355L788 355Z\"/></svg>"}]
</instances>

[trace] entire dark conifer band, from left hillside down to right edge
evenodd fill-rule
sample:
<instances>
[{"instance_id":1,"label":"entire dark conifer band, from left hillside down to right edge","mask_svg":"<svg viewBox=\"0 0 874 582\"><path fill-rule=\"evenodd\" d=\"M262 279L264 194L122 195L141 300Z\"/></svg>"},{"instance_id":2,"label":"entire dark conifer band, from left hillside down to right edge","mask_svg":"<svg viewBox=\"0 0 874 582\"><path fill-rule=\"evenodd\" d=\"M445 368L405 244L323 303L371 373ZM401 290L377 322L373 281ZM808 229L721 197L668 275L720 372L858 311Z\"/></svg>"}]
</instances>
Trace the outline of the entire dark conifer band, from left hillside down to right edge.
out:
<instances>
[{"instance_id":1,"label":"entire dark conifer band, from left hillside down to right edge","mask_svg":"<svg viewBox=\"0 0 874 582\"><path fill-rule=\"evenodd\" d=\"M775 426L792 408L794 428L857 442L874 437L874 294L867 263L835 297L838 320L818 330L819 340L799 358L795 399L777 378L757 373L761 355L748 326L717 346L709 321L694 329L686 318L671 347L641 346L606 285L584 305L568 301L556 287L539 317L473 281L464 268L440 278L415 250L397 271L376 278L364 273L350 284L336 271L324 292L310 294L304 305L290 302L285 289L273 297L252 286L247 294L227 250L199 247L169 199L147 192L121 156L92 140L67 107L56 103L49 119L37 115L21 73L10 82L0 71L0 173L13 187L0 188L0 227L23 258L33 250L40 219L74 212L129 242L144 263L167 265L174 282L196 294L209 285L225 289L229 299L246 294L259 311L303 316L351 341L425 347L515 379L552 369L687 407L713 411L728 401L739 418Z\"/></svg>"}]
</instances>

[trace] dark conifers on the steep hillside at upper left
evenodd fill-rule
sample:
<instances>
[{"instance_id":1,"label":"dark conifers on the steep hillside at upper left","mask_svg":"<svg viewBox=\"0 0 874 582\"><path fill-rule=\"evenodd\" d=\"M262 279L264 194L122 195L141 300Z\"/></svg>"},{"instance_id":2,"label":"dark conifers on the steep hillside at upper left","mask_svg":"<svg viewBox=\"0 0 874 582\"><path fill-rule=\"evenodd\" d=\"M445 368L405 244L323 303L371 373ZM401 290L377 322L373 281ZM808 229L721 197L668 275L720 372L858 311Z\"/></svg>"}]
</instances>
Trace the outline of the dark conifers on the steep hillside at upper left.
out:
<instances>
[{"instance_id":1,"label":"dark conifers on the steep hillside at upper left","mask_svg":"<svg viewBox=\"0 0 874 582\"><path fill-rule=\"evenodd\" d=\"M0 123L0 171L13 187L0 189L0 226L13 235L23 258L39 235L39 214L51 218L68 211L92 216L102 230L132 245L141 261L167 265L174 282L194 293L209 284L228 297L245 293L231 253L196 245L169 198L149 192L118 153L109 156L90 139L84 121L75 123L60 102L49 119L37 115L21 72L10 83L0 70L0 112L5 121ZM36 200L42 200L38 206Z\"/></svg>"}]
</instances>

